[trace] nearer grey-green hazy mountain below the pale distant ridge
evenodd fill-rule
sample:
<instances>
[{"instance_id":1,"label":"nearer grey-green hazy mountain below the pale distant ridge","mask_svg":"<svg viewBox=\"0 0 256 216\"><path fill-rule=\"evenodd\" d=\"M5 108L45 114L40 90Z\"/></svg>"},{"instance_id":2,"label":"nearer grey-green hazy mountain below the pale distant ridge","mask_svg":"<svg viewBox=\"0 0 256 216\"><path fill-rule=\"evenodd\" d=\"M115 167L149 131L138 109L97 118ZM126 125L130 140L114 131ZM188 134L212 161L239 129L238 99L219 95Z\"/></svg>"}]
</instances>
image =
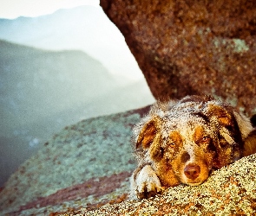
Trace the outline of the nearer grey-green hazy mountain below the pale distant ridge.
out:
<instances>
[{"instance_id":1,"label":"nearer grey-green hazy mountain below the pale distant ridge","mask_svg":"<svg viewBox=\"0 0 256 216\"><path fill-rule=\"evenodd\" d=\"M0 41L0 186L66 125L154 101L141 81L119 80L82 51Z\"/></svg>"}]
</instances>

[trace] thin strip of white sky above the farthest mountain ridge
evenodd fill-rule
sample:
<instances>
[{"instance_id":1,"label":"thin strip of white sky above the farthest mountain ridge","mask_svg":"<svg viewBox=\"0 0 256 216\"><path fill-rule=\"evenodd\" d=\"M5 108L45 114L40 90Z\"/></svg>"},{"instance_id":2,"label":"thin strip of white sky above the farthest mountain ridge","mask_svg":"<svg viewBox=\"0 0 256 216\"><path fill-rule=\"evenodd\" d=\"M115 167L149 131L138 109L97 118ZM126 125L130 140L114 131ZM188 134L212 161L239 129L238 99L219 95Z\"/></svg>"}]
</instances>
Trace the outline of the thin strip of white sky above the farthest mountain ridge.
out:
<instances>
[{"instance_id":1,"label":"thin strip of white sky above the farthest mountain ridge","mask_svg":"<svg viewBox=\"0 0 256 216\"><path fill-rule=\"evenodd\" d=\"M100 0L0 0L0 18L42 16L79 5L98 6Z\"/></svg>"}]
</instances>

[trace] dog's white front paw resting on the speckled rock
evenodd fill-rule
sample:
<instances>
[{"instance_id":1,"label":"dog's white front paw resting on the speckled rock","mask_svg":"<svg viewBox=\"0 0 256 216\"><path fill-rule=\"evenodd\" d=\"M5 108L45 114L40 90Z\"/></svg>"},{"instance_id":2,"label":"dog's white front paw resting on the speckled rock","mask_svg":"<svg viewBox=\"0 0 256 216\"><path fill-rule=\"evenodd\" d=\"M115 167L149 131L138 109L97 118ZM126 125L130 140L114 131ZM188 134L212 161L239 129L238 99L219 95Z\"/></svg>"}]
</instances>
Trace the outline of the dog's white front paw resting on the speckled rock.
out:
<instances>
[{"instance_id":1,"label":"dog's white front paw resting on the speckled rock","mask_svg":"<svg viewBox=\"0 0 256 216\"><path fill-rule=\"evenodd\" d=\"M162 191L161 182L149 165L141 169L136 179L136 185L135 195L138 199L147 199Z\"/></svg>"}]
</instances>

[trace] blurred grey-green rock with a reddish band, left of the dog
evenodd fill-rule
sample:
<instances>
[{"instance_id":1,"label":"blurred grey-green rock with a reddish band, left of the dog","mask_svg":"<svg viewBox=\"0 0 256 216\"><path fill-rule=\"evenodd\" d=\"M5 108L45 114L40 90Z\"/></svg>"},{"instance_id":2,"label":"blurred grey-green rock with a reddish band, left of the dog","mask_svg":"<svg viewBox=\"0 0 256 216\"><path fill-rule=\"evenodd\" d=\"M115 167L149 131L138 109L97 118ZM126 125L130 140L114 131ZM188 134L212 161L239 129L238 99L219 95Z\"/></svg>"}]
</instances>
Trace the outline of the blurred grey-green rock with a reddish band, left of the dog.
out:
<instances>
[{"instance_id":1,"label":"blurred grey-green rock with a reddish band, left of the dog","mask_svg":"<svg viewBox=\"0 0 256 216\"><path fill-rule=\"evenodd\" d=\"M24 162L0 190L0 215L46 215L120 202L135 169L132 128L145 107L69 125Z\"/></svg>"}]
</instances>

